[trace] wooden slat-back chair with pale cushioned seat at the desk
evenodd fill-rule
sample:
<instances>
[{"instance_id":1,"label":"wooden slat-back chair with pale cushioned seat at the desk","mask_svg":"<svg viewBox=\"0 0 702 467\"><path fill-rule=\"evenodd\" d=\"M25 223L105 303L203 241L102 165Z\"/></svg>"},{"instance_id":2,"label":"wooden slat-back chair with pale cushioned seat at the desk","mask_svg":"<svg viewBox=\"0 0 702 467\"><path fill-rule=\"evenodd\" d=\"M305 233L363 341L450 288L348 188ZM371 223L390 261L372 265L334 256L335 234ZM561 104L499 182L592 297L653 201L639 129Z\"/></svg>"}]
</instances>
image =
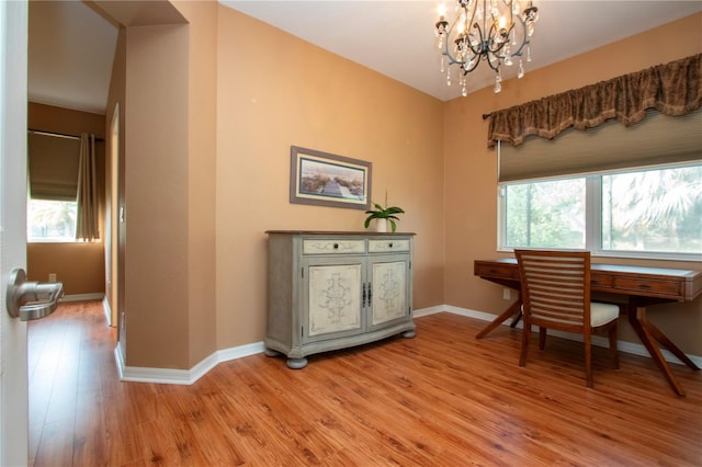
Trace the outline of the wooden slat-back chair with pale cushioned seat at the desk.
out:
<instances>
[{"instance_id":1,"label":"wooden slat-back chair with pale cushioned seat at the desk","mask_svg":"<svg viewBox=\"0 0 702 467\"><path fill-rule=\"evenodd\" d=\"M590 252L514 250L522 287L524 332L519 366L526 364L531 327L539 327L539 349L546 329L582 334L587 386L592 387L591 335L608 331L610 353L619 368L619 306L590 301Z\"/></svg>"}]
</instances>

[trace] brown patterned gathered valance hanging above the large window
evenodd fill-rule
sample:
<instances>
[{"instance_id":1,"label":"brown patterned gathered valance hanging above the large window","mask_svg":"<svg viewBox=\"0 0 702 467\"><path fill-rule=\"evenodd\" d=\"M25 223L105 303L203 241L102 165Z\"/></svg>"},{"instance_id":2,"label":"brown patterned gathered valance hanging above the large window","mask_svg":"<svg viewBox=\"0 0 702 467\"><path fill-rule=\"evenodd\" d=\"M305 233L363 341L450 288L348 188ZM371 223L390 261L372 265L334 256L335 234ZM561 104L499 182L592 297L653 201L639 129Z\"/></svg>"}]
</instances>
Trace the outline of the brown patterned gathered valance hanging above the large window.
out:
<instances>
[{"instance_id":1,"label":"brown patterned gathered valance hanging above the large window","mask_svg":"<svg viewBox=\"0 0 702 467\"><path fill-rule=\"evenodd\" d=\"M609 81L551 95L490 115L488 147L501 140L519 146L530 135L553 139L574 127L591 128L616 118L626 126L646 109L686 115L702 105L702 54Z\"/></svg>"}]
</instances>

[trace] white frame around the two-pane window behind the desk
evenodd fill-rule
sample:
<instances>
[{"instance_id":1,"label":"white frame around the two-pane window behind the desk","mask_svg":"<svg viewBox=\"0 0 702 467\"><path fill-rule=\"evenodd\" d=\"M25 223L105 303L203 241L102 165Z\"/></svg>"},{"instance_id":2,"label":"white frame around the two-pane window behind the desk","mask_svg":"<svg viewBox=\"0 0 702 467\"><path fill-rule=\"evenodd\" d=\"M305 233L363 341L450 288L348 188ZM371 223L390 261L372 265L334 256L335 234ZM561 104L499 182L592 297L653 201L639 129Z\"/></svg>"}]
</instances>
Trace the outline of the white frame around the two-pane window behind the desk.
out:
<instances>
[{"instance_id":1,"label":"white frame around the two-pane window behind the desk","mask_svg":"<svg viewBox=\"0 0 702 467\"><path fill-rule=\"evenodd\" d=\"M702 261L702 253L667 252L667 251L638 251L638 250L609 250L602 248L602 176L618 173L632 173L645 170L664 170L684 167L702 166L702 160L692 162L680 162L671 164L632 167L626 169L608 170L592 173L575 173L571 175L545 176L536 179L513 180L497 183L497 251L513 252L514 247L505 244L507 238L507 206L506 186L524 183L539 183L556 180L585 179L585 249L589 250L592 257L597 258L622 258L622 259L644 259L644 260L668 260L668 261ZM534 248L536 247L516 247ZM542 248L542 247L539 247ZM553 250L565 250L555 247L547 247Z\"/></svg>"}]
</instances>

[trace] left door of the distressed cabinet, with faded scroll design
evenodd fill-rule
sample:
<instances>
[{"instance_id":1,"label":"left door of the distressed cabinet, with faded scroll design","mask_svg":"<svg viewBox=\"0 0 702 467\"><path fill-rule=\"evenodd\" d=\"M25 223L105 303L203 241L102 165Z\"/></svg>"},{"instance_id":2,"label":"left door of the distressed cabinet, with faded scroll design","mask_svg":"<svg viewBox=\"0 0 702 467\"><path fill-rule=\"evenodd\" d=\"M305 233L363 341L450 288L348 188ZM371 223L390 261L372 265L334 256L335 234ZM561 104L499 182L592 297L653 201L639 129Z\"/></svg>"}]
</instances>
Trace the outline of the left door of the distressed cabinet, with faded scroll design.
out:
<instances>
[{"instance_id":1,"label":"left door of the distressed cabinet, with faded scroll design","mask_svg":"<svg viewBox=\"0 0 702 467\"><path fill-rule=\"evenodd\" d=\"M325 264L327 263L327 264ZM306 341L350 335L363 330L363 259L310 261L304 281Z\"/></svg>"}]
</instances>

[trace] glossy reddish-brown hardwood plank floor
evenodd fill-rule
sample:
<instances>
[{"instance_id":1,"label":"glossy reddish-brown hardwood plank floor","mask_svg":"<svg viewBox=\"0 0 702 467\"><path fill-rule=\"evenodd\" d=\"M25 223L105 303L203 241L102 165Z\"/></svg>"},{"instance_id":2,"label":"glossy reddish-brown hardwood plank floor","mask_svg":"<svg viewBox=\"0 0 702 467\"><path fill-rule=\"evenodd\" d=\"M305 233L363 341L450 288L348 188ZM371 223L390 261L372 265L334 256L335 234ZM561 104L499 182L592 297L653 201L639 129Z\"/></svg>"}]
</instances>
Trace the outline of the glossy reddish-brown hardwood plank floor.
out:
<instances>
[{"instance_id":1,"label":"glossy reddish-brown hardwood plank floor","mask_svg":"<svg viewBox=\"0 0 702 467\"><path fill-rule=\"evenodd\" d=\"M34 466L700 466L702 374L605 349L585 386L581 344L451 314L393 338L312 356L263 354L192 386L121 383L100 303L61 304L30 324Z\"/></svg>"}]
</instances>

